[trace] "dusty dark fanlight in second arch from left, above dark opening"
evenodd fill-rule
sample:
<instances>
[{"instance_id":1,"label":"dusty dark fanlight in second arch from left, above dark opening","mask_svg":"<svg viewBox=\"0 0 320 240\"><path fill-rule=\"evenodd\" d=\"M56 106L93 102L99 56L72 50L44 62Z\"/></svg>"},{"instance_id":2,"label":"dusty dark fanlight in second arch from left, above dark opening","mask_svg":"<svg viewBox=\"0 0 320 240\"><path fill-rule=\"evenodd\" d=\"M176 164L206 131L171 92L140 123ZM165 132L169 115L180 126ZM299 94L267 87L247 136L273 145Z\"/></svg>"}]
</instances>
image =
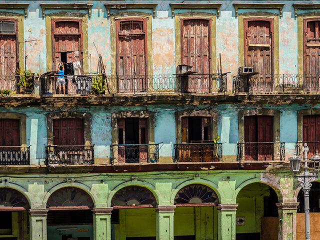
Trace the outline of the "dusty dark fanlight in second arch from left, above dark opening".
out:
<instances>
[{"instance_id":1,"label":"dusty dark fanlight in second arch from left, above dark opening","mask_svg":"<svg viewBox=\"0 0 320 240\"><path fill-rule=\"evenodd\" d=\"M46 207L54 209L89 209L94 206L91 197L82 189L76 187L63 187L54 191Z\"/></svg>"}]
</instances>

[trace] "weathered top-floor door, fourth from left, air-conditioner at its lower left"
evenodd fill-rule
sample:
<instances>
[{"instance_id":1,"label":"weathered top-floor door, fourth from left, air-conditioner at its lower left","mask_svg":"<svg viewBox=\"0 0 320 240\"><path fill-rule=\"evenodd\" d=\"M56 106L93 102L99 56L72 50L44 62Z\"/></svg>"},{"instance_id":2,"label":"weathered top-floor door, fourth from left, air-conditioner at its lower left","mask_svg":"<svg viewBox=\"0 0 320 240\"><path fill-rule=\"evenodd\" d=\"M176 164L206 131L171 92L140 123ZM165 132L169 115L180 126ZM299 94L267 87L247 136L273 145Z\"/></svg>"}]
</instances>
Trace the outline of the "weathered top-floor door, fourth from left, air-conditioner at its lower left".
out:
<instances>
[{"instance_id":1,"label":"weathered top-floor door, fourth from left, air-conditioner at its lower left","mask_svg":"<svg viewBox=\"0 0 320 240\"><path fill-rule=\"evenodd\" d=\"M210 20L184 19L181 21L181 64L192 66L201 75L189 75L188 92L210 92L211 38Z\"/></svg>"}]
</instances>

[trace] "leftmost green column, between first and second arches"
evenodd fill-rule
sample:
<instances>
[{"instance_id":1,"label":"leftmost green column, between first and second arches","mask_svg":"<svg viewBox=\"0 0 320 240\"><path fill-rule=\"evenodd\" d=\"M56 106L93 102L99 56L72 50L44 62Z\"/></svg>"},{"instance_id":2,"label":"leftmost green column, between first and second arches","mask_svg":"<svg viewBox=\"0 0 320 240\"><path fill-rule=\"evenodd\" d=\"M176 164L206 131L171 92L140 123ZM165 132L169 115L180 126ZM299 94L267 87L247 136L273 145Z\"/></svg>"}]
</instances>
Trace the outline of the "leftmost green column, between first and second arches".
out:
<instances>
[{"instance_id":1,"label":"leftmost green column, between first and second arches","mask_svg":"<svg viewBox=\"0 0 320 240\"><path fill-rule=\"evenodd\" d=\"M30 239L46 240L47 208L29 209Z\"/></svg>"}]
</instances>

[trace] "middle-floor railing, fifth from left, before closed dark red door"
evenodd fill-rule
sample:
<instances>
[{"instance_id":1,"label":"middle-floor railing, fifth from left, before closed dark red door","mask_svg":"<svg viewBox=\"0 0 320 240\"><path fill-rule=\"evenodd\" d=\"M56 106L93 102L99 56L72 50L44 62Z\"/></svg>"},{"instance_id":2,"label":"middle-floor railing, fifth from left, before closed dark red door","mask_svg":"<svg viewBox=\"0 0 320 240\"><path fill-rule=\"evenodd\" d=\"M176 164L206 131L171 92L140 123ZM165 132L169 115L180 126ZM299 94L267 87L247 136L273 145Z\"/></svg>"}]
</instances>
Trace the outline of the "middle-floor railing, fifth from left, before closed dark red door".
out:
<instances>
[{"instance_id":1,"label":"middle-floor railing, fifth from left, before closed dark red door","mask_svg":"<svg viewBox=\"0 0 320 240\"><path fill-rule=\"evenodd\" d=\"M284 161L284 142L237 143L237 161Z\"/></svg>"}]
</instances>

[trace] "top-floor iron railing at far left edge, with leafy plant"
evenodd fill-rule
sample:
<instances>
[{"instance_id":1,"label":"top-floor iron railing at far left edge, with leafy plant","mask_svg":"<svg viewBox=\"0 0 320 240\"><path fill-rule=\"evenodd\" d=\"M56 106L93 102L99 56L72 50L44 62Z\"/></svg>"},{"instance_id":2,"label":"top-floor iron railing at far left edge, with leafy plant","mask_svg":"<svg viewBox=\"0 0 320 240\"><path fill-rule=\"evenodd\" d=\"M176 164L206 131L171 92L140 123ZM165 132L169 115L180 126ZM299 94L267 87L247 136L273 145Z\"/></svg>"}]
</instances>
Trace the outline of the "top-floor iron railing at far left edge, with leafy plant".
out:
<instances>
[{"instance_id":1,"label":"top-floor iron railing at far left edge, with leafy plant","mask_svg":"<svg viewBox=\"0 0 320 240\"><path fill-rule=\"evenodd\" d=\"M22 81L23 80L23 81ZM34 74L0 75L0 94L33 93Z\"/></svg>"}]
</instances>

